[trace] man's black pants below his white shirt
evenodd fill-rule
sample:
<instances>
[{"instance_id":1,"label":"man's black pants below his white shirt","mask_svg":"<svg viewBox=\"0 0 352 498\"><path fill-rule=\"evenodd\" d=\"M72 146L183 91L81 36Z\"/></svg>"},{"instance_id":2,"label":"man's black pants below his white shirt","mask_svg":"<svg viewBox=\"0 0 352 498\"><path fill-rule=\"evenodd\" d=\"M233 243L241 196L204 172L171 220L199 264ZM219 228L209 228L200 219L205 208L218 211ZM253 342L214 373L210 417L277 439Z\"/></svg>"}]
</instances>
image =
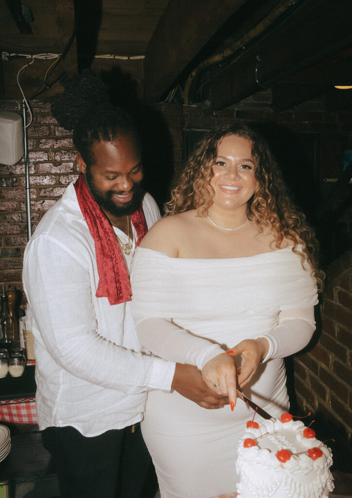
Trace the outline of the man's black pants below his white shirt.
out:
<instances>
[{"instance_id":1,"label":"man's black pants below his white shirt","mask_svg":"<svg viewBox=\"0 0 352 498\"><path fill-rule=\"evenodd\" d=\"M142 498L152 466L139 424L85 437L73 427L48 427L43 445L56 464L61 498Z\"/></svg>"}]
</instances>

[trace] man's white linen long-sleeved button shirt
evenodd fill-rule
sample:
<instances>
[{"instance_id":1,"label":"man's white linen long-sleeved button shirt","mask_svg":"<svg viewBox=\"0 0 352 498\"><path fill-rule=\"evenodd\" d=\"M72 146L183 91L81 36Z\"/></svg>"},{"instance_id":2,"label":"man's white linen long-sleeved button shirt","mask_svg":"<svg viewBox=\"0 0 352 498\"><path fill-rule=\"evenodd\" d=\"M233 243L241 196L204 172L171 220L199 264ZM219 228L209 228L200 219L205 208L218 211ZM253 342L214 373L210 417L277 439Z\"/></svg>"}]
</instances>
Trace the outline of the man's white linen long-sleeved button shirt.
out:
<instances>
[{"instance_id":1,"label":"man's white linen long-sleeved button shirt","mask_svg":"<svg viewBox=\"0 0 352 498\"><path fill-rule=\"evenodd\" d=\"M159 210L149 194L142 207L150 228ZM111 306L96 297L98 282L94 240L71 183L39 223L23 261L41 430L71 425L96 436L121 429L142 419L147 390L171 388L175 364L145 354L130 301Z\"/></svg>"}]
</instances>

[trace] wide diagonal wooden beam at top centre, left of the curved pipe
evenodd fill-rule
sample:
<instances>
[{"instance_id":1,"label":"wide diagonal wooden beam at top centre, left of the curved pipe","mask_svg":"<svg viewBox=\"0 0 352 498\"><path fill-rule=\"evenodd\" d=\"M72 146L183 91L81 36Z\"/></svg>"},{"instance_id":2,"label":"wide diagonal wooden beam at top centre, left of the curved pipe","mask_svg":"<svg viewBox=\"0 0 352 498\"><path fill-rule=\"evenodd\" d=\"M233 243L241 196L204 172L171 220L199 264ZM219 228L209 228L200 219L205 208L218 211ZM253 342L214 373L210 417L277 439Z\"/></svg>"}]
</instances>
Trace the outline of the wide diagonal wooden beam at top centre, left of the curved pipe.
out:
<instances>
[{"instance_id":1,"label":"wide diagonal wooden beam at top centre, left of the curved pipe","mask_svg":"<svg viewBox=\"0 0 352 498\"><path fill-rule=\"evenodd\" d=\"M144 96L156 102L246 0L170 0L147 46Z\"/></svg>"}]
</instances>

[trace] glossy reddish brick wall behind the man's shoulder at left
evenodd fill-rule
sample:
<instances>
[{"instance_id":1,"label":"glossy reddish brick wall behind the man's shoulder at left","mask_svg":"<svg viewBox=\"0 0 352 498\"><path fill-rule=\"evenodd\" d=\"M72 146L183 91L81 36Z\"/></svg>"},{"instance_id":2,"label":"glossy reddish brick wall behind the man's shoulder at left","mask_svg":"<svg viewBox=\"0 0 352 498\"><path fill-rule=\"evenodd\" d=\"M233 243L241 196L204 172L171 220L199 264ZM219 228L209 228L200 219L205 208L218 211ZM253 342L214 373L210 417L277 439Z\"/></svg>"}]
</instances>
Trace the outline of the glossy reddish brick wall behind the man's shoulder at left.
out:
<instances>
[{"instance_id":1,"label":"glossy reddish brick wall behind the man's shoulder at left","mask_svg":"<svg viewBox=\"0 0 352 498\"><path fill-rule=\"evenodd\" d=\"M0 111L21 114L19 101L0 101ZM77 177L71 133L61 128L45 102L31 103L33 123L28 127L32 230L44 213ZM26 236L25 176L23 160L0 165L0 283L22 289L21 271ZM22 303L24 303L24 297Z\"/></svg>"}]
</instances>

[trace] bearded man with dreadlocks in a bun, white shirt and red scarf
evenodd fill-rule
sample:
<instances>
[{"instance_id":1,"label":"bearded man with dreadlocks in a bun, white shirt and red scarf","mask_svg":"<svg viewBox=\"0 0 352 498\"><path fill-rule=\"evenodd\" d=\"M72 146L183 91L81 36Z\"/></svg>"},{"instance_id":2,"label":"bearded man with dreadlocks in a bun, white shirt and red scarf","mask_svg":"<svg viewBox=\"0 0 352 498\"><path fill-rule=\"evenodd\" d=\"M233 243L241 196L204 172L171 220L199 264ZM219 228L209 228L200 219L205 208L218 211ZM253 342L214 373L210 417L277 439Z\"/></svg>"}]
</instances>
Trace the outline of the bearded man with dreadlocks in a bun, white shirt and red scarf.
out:
<instances>
[{"instance_id":1,"label":"bearded man with dreadlocks in a bun, white shirt and red scarf","mask_svg":"<svg viewBox=\"0 0 352 498\"><path fill-rule=\"evenodd\" d=\"M196 367L150 356L140 346L128 271L160 215L140 187L137 134L91 71L64 87L52 114L73 129L81 174L39 223L23 263L38 424L62 498L138 498L150 457L134 429L147 391L174 388L205 408L228 400L206 386Z\"/></svg>"}]
</instances>

